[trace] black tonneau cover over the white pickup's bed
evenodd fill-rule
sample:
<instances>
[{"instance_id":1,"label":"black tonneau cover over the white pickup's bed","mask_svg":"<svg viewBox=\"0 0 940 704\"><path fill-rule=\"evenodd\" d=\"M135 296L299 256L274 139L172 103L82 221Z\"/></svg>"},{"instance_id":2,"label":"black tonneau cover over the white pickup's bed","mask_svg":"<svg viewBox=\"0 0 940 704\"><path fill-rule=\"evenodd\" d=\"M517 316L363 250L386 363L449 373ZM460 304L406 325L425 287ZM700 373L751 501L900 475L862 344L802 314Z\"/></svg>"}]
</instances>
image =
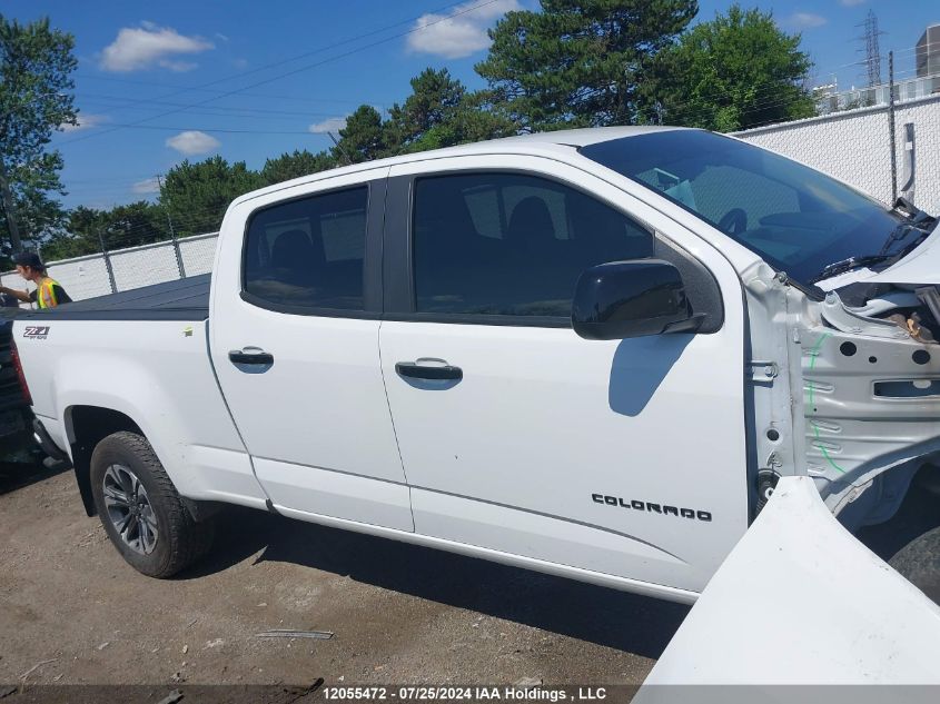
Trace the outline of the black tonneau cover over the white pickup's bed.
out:
<instances>
[{"instance_id":1,"label":"black tonneau cover over the white pickup's bed","mask_svg":"<svg viewBox=\"0 0 940 704\"><path fill-rule=\"evenodd\" d=\"M205 320L210 274L23 313L43 320Z\"/></svg>"}]
</instances>

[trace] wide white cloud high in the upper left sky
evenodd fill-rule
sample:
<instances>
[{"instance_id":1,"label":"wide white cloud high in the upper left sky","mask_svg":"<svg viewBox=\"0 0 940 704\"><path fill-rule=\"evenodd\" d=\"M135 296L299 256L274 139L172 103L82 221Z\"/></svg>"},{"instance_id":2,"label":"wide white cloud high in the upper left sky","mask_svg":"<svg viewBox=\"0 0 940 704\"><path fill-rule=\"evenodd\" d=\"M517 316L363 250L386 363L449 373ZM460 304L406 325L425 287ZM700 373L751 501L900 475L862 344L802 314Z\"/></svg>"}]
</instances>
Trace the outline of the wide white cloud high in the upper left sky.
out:
<instances>
[{"instance_id":1,"label":"wide white cloud high in the upper left sky","mask_svg":"<svg viewBox=\"0 0 940 704\"><path fill-rule=\"evenodd\" d=\"M189 71L196 68L191 61L174 60L170 57L199 53L215 46L201 37L185 37L171 27L157 27L141 22L140 27L125 27L101 52L100 66L106 71L126 73L159 66L171 71Z\"/></svg>"}]
</instances>

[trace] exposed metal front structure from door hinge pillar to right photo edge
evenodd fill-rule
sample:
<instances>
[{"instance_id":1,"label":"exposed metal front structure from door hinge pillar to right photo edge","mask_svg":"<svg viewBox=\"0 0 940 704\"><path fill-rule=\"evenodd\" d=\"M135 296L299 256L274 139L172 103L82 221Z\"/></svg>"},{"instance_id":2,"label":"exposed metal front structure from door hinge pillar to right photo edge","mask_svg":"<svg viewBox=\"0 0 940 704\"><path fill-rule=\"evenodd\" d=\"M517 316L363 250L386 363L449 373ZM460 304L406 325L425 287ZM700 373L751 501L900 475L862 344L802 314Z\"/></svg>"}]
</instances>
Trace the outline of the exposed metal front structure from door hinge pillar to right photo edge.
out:
<instances>
[{"instance_id":1,"label":"exposed metal front structure from door hinge pillar to right photo edge","mask_svg":"<svg viewBox=\"0 0 940 704\"><path fill-rule=\"evenodd\" d=\"M938 286L854 281L815 300L763 264L743 280L753 513L781 476L809 475L855 531L890 519L916 476L937 486Z\"/></svg>"}]
</instances>

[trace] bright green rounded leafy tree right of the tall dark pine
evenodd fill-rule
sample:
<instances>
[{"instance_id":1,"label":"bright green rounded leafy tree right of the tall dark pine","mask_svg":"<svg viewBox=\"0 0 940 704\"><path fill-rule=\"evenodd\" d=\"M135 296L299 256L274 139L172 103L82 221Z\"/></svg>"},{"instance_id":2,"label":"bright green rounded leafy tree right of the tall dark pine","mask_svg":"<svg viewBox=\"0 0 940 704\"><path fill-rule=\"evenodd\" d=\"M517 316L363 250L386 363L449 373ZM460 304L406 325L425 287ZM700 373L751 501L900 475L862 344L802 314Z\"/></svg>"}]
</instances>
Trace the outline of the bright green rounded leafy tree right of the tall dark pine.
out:
<instances>
[{"instance_id":1,"label":"bright green rounded leafy tree right of the tall dark pine","mask_svg":"<svg viewBox=\"0 0 940 704\"><path fill-rule=\"evenodd\" d=\"M663 121L726 132L815 115L810 68L800 34L771 12L733 4L664 51L653 85Z\"/></svg>"}]
</instances>

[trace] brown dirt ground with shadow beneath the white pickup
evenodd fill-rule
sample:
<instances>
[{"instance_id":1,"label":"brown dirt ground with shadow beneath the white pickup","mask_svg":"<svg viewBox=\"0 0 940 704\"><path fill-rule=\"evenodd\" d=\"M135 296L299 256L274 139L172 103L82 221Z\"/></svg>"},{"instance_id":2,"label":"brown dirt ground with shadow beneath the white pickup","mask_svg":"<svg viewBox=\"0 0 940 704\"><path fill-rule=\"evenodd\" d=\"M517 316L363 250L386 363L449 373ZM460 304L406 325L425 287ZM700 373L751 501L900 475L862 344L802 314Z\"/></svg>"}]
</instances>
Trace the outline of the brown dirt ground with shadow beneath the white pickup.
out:
<instances>
[{"instance_id":1,"label":"brown dirt ground with shadow beneath the white pickup","mask_svg":"<svg viewBox=\"0 0 940 704\"><path fill-rule=\"evenodd\" d=\"M248 509L221 517L204 564L156 581L85 515L71 473L0 492L0 683L635 684L687 613Z\"/></svg>"}]
</instances>

